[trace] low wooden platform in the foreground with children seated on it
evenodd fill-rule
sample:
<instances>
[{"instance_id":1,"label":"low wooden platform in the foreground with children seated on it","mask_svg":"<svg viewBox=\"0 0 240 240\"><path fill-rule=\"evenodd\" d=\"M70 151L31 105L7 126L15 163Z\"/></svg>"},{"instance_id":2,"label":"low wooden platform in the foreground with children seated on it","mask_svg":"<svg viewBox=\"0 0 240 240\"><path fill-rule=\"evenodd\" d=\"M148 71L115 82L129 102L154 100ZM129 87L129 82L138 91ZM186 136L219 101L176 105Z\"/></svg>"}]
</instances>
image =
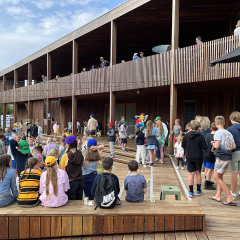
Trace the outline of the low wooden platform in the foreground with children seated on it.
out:
<instances>
[{"instance_id":1,"label":"low wooden platform in the foreground with children seated on it","mask_svg":"<svg viewBox=\"0 0 240 240\"><path fill-rule=\"evenodd\" d=\"M0 239L34 239L82 235L205 230L205 214L196 201L122 202L113 209L69 201L61 208L0 211Z\"/></svg>"}]
</instances>

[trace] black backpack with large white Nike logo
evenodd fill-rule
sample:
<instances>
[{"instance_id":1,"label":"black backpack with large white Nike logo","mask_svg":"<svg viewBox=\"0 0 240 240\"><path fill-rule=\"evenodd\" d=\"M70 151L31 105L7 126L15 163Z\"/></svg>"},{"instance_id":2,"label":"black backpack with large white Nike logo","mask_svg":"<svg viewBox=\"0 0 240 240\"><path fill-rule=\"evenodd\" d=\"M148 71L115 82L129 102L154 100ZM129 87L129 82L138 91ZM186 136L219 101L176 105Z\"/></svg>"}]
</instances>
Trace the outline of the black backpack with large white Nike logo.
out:
<instances>
[{"instance_id":1,"label":"black backpack with large white Nike logo","mask_svg":"<svg viewBox=\"0 0 240 240\"><path fill-rule=\"evenodd\" d=\"M100 174L95 191L98 207L113 208L118 200L117 187L112 174Z\"/></svg>"}]
</instances>

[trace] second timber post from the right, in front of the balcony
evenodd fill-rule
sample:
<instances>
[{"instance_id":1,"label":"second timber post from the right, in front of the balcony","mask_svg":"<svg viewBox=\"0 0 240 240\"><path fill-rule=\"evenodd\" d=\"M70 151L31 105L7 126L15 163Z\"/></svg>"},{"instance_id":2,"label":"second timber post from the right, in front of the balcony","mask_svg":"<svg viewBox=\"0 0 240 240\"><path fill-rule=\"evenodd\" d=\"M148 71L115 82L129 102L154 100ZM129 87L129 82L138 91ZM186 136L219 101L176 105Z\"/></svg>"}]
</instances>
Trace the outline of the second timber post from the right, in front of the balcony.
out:
<instances>
[{"instance_id":1,"label":"second timber post from the right, in front of the balcony","mask_svg":"<svg viewBox=\"0 0 240 240\"><path fill-rule=\"evenodd\" d=\"M110 109L109 109L109 120L115 124L116 115L116 93L113 92L113 65L117 63L117 24L115 21L111 21L111 56L110 56L110 66L111 66L111 77L110 77Z\"/></svg>"}]
</instances>

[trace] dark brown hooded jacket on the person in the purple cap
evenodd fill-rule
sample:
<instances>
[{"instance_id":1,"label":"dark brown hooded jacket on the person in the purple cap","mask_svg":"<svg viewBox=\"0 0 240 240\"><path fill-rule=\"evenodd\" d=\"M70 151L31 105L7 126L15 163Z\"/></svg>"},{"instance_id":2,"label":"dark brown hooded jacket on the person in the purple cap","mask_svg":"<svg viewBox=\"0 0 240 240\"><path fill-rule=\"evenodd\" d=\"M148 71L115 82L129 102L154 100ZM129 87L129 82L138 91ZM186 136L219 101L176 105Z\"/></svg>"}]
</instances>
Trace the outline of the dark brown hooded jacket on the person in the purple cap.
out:
<instances>
[{"instance_id":1,"label":"dark brown hooded jacket on the person in the purple cap","mask_svg":"<svg viewBox=\"0 0 240 240\"><path fill-rule=\"evenodd\" d=\"M77 150L76 153L71 151L67 152L68 163L66 166L66 172L69 177L69 181L82 180L82 166L83 166L83 155L81 151Z\"/></svg>"}]
</instances>

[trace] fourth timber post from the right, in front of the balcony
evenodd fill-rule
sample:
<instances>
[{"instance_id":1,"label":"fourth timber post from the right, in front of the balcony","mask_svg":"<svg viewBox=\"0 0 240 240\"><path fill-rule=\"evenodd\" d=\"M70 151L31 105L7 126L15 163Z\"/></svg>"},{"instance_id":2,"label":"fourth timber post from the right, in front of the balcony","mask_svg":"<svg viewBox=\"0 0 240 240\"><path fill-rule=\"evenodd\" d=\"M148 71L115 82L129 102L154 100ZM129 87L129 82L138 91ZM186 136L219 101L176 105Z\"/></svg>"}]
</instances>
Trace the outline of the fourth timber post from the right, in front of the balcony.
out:
<instances>
[{"instance_id":1,"label":"fourth timber post from the right, in front of the balcony","mask_svg":"<svg viewBox=\"0 0 240 240\"><path fill-rule=\"evenodd\" d=\"M47 135L51 134L51 100L49 99L49 81L52 79L52 58L47 53Z\"/></svg>"}]
</instances>

